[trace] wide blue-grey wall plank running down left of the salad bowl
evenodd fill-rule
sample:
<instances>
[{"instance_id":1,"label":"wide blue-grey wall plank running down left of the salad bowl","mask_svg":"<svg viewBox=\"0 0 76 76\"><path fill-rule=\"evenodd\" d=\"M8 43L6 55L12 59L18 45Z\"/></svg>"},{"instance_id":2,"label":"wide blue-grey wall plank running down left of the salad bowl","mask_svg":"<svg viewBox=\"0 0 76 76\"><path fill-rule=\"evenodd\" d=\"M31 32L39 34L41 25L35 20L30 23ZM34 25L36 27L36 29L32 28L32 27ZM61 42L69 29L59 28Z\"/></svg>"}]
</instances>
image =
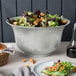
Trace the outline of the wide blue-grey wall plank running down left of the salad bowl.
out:
<instances>
[{"instance_id":1,"label":"wide blue-grey wall plank running down left of the salad bowl","mask_svg":"<svg viewBox=\"0 0 76 76\"><path fill-rule=\"evenodd\" d=\"M6 24L7 17L16 16L16 2L15 0L1 0L2 4L2 26L3 26L3 41L14 41L12 28Z\"/></svg>"}]
</instances>

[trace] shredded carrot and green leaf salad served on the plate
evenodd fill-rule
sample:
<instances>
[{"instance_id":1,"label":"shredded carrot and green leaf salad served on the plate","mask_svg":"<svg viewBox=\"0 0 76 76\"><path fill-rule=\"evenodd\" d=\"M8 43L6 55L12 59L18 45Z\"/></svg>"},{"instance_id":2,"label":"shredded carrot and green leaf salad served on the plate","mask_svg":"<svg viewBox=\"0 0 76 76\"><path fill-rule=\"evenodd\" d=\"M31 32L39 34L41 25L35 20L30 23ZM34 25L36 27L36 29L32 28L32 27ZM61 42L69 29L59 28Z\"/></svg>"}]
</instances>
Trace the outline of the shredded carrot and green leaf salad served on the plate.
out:
<instances>
[{"instance_id":1,"label":"shredded carrot and green leaf salad served on the plate","mask_svg":"<svg viewBox=\"0 0 76 76\"><path fill-rule=\"evenodd\" d=\"M70 72L76 72L76 67L70 62L61 62L58 60L53 66L45 67L41 73L44 76L69 76Z\"/></svg>"}]
</instances>

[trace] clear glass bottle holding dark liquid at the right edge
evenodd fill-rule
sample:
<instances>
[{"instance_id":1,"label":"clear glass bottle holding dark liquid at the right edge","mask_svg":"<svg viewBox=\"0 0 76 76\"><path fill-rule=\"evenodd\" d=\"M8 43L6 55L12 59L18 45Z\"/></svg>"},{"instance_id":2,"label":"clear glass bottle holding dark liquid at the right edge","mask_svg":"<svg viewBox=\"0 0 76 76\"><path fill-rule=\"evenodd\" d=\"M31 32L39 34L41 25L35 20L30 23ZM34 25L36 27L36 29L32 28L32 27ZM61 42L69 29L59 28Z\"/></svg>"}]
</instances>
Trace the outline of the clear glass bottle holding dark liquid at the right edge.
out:
<instances>
[{"instance_id":1,"label":"clear glass bottle holding dark liquid at the right edge","mask_svg":"<svg viewBox=\"0 0 76 76\"><path fill-rule=\"evenodd\" d=\"M76 58L76 23L74 24L72 40L67 47L67 56Z\"/></svg>"}]
</instances>

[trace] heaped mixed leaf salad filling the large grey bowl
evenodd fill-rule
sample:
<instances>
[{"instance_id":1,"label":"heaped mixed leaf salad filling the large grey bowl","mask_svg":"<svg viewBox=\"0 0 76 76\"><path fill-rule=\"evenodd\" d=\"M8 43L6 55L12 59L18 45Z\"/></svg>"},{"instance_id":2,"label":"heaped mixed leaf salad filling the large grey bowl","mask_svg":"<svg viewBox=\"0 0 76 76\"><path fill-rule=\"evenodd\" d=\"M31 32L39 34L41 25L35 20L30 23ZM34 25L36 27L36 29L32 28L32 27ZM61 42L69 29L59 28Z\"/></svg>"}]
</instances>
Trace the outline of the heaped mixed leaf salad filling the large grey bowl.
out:
<instances>
[{"instance_id":1,"label":"heaped mixed leaf salad filling the large grey bowl","mask_svg":"<svg viewBox=\"0 0 76 76\"><path fill-rule=\"evenodd\" d=\"M40 10L35 12L24 12L22 16L14 20L11 20L10 18L7 19L13 25L25 27L55 27L67 23L67 20L64 19L63 16L57 14L51 15L48 11L45 14Z\"/></svg>"}]
</instances>

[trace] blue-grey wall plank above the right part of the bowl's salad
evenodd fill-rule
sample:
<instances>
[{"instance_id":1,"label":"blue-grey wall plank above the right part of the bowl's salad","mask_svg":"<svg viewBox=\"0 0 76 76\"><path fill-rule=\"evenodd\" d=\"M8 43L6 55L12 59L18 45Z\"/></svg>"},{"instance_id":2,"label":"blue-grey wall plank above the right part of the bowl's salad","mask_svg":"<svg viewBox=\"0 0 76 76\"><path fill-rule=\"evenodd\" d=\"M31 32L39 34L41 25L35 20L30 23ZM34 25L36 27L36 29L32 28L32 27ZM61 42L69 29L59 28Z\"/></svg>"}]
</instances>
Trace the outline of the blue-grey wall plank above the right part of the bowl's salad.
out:
<instances>
[{"instance_id":1,"label":"blue-grey wall plank above the right part of the bowl's salad","mask_svg":"<svg viewBox=\"0 0 76 76\"><path fill-rule=\"evenodd\" d=\"M61 15L61 0L48 0L48 11L51 14L59 14Z\"/></svg>"}]
</instances>

